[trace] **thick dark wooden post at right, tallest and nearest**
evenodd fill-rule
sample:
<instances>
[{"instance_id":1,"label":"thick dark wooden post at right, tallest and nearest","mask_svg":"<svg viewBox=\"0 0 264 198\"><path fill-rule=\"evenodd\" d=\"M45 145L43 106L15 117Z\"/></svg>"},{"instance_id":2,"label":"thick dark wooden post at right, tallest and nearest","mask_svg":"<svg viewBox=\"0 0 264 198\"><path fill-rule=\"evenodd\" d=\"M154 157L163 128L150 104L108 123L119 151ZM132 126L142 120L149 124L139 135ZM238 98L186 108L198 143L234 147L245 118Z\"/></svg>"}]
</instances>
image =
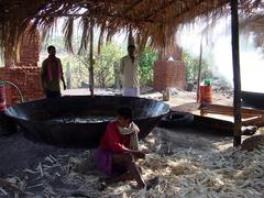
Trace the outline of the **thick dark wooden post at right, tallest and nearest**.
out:
<instances>
[{"instance_id":1,"label":"thick dark wooden post at right, tallest and nearest","mask_svg":"<svg viewBox=\"0 0 264 198\"><path fill-rule=\"evenodd\" d=\"M232 61L233 61L233 146L241 145L241 78L240 78L240 54L239 54L239 14L238 0L230 0L231 6L231 40L232 40Z\"/></svg>"}]
</instances>

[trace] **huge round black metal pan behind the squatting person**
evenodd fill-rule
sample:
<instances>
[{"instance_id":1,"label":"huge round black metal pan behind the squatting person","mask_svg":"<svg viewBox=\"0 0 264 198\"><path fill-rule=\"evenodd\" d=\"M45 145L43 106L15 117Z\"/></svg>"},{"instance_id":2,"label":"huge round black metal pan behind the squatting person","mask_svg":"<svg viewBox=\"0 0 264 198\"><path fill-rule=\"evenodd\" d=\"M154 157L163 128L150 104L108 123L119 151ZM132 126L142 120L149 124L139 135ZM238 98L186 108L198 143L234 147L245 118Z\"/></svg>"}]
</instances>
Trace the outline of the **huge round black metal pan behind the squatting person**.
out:
<instances>
[{"instance_id":1,"label":"huge round black metal pan behind the squatting person","mask_svg":"<svg viewBox=\"0 0 264 198\"><path fill-rule=\"evenodd\" d=\"M58 146L94 147L120 106L133 109L133 120L141 130L140 139L169 111L168 105L144 98L68 96L19 103L9 107L6 114L33 140ZM91 120L94 116L105 120Z\"/></svg>"}]
</instances>

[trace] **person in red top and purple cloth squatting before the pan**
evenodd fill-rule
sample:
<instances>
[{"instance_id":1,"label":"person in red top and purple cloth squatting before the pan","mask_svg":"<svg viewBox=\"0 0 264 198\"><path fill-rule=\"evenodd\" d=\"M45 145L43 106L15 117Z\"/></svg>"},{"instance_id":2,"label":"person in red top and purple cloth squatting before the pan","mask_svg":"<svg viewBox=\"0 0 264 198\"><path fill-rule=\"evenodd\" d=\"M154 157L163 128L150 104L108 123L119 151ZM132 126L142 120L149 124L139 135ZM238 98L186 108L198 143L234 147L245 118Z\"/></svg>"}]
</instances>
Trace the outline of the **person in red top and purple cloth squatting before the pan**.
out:
<instances>
[{"instance_id":1,"label":"person in red top and purple cloth squatting before the pan","mask_svg":"<svg viewBox=\"0 0 264 198\"><path fill-rule=\"evenodd\" d=\"M95 156L98 169L109 176L101 180L101 190L107 185L127 179L135 179L140 189L153 187L145 184L141 168L135 164L138 158L145 157L139 150L139 132L140 129L132 121L132 110L128 107L120 108L118 118L108 124Z\"/></svg>"}]
</instances>

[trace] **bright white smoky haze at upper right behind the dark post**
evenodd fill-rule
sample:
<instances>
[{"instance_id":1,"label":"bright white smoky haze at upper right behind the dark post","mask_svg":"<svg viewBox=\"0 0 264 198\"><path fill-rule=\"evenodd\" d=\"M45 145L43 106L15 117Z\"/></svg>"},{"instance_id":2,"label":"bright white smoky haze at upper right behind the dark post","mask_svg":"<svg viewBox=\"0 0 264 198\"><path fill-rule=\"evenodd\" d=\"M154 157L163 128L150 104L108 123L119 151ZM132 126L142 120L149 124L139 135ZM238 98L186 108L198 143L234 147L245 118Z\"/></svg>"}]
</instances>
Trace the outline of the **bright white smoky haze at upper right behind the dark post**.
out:
<instances>
[{"instance_id":1,"label":"bright white smoky haze at upper right behind the dark post","mask_svg":"<svg viewBox=\"0 0 264 198\"><path fill-rule=\"evenodd\" d=\"M202 56L213 67L215 75L224 76L233 85L230 18L220 19L209 31L205 23L185 26L177 35L178 44L199 57L202 35ZM240 36L242 90L264 92L264 53L255 47L252 36Z\"/></svg>"}]
</instances>

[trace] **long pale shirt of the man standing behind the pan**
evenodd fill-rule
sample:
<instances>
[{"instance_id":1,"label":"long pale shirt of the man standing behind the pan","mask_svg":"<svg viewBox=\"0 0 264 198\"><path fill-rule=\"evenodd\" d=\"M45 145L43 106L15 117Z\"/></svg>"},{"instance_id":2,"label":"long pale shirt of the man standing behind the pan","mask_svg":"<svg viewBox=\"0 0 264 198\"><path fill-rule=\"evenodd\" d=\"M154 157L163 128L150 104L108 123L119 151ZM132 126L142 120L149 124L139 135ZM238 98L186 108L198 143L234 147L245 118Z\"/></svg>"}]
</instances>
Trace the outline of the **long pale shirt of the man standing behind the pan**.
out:
<instances>
[{"instance_id":1,"label":"long pale shirt of the man standing behind the pan","mask_svg":"<svg viewBox=\"0 0 264 198\"><path fill-rule=\"evenodd\" d=\"M120 72L123 75L123 88L140 89L139 80L139 61L135 58L134 63L129 55L120 61Z\"/></svg>"}]
</instances>

